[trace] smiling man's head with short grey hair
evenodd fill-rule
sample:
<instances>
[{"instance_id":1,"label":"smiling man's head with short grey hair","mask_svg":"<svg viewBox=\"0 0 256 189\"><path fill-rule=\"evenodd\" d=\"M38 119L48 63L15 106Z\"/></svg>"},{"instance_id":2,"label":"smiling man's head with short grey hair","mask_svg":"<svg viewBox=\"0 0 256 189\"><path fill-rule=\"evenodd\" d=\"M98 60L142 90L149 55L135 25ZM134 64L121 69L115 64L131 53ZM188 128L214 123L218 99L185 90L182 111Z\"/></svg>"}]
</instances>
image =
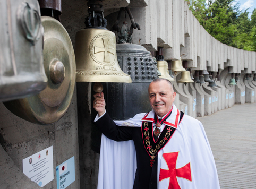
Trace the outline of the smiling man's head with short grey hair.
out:
<instances>
[{"instance_id":1,"label":"smiling man's head with short grey hair","mask_svg":"<svg viewBox=\"0 0 256 189\"><path fill-rule=\"evenodd\" d=\"M161 80L150 83L148 93L150 106L158 116L163 117L172 109L176 92L173 92L167 81Z\"/></svg>"}]
</instances>

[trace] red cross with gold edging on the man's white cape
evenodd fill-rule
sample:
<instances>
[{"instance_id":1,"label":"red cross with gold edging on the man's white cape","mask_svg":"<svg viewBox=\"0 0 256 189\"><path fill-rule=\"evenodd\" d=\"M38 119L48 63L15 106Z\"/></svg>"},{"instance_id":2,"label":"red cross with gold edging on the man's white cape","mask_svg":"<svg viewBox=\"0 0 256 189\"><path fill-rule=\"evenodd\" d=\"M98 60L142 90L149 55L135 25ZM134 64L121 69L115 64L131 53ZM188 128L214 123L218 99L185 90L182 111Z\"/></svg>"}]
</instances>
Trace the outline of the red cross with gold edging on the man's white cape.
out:
<instances>
[{"instance_id":1,"label":"red cross with gold edging on the man's white cape","mask_svg":"<svg viewBox=\"0 0 256 189\"><path fill-rule=\"evenodd\" d=\"M184 167L176 169L178 152L164 153L163 158L169 169L160 169L159 182L163 179L170 178L168 189L181 189L176 177L185 178L192 182L190 163L186 164Z\"/></svg>"}]
</instances>

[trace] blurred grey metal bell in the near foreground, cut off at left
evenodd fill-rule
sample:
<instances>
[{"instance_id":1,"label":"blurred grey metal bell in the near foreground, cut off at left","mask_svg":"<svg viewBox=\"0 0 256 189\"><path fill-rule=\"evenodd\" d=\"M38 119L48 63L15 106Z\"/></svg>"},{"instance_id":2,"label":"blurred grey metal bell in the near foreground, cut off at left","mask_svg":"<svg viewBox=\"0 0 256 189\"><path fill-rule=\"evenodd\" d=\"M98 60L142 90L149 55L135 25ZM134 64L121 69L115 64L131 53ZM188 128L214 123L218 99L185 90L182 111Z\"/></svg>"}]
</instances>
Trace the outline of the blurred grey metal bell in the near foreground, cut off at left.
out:
<instances>
[{"instance_id":1,"label":"blurred grey metal bell in the near foreground, cut off at left","mask_svg":"<svg viewBox=\"0 0 256 189\"><path fill-rule=\"evenodd\" d=\"M47 84L38 2L1 0L0 4L0 101L35 95Z\"/></svg>"}]
</instances>

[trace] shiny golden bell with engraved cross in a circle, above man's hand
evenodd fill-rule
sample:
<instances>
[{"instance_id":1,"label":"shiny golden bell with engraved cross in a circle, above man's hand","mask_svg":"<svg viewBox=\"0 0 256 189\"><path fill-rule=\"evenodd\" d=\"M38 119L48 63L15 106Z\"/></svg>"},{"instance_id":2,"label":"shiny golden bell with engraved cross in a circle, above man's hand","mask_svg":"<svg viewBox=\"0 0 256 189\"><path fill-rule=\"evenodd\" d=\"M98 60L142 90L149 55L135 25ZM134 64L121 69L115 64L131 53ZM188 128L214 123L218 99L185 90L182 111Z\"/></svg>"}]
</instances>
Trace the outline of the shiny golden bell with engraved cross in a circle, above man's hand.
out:
<instances>
[{"instance_id":1,"label":"shiny golden bell with engraved cross in a circle, above man's hand","mask_svg":"<svg viewBox=\"0 0 256 189\"><path fill-rule=\"evenodd\" d=\"M76 81L131 83L117 62L115 33L86 28L75 36Z\"/></svg>"}]
</instances>

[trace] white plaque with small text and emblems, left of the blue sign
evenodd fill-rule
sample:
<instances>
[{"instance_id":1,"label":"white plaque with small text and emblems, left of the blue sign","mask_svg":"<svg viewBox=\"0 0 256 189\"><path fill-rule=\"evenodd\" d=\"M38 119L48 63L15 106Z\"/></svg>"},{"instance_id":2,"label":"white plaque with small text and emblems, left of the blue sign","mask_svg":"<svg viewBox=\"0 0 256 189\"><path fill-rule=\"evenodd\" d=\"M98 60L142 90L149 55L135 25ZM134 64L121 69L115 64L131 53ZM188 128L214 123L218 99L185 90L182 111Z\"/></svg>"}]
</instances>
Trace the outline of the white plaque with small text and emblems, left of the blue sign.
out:
<instances>
[{"instance_id":1,"label":"white plaque with small text and emblems, left of the blue sign","mask_svg":"<svg viewBox=\"0 0 256 189\"><path fill-rule=\"evenodd\" d=\"M22 160L23 173L44 187L53 180L53 146Z\"/></svg>"}]
</instances>

